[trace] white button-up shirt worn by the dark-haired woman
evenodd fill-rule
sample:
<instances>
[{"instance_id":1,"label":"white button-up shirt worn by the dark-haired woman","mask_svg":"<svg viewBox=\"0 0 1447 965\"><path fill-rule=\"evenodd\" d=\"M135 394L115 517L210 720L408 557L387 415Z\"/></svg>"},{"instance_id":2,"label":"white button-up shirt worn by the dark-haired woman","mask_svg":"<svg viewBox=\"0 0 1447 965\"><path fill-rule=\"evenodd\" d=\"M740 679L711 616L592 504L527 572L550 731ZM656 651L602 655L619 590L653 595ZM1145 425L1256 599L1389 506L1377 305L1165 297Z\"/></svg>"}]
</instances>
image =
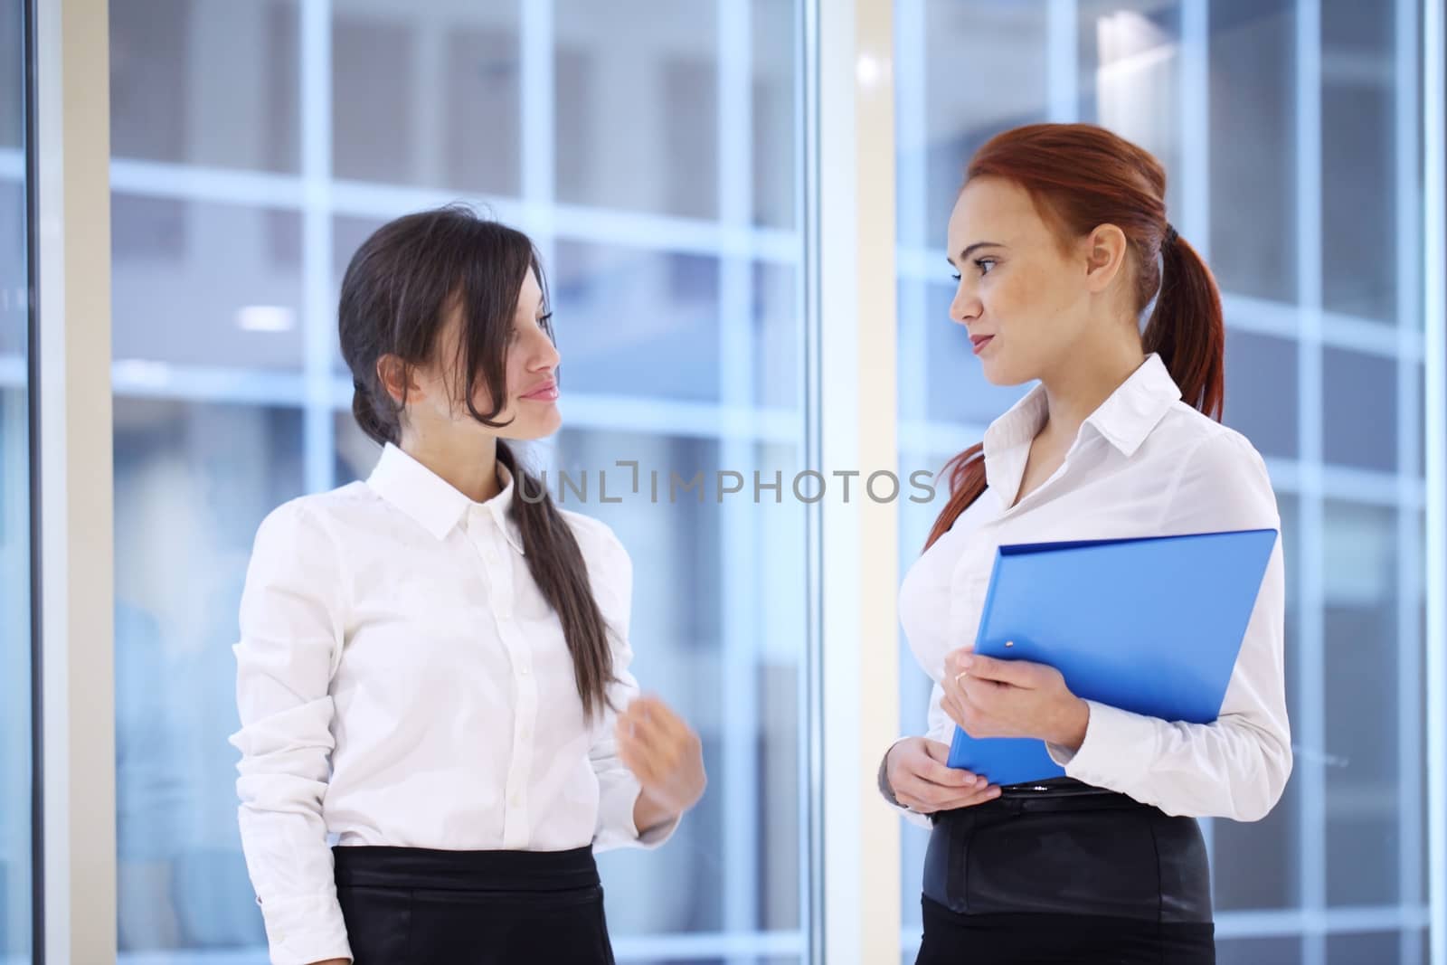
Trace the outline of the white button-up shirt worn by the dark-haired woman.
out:
<instances>
[{"instance_id":1,"label":"white button-up shirt worn by the dark-haired woman","mask_svg":"<svg viewBox=\"0 0 1447 965\"><path fill-rule=\"evenodd\" d=\"M586 720L563 626L528 573L502 492L470 501L395 446L370 477L262 521L240 606L237 791L272 962L350 956L327 835L447 851L657 846ZM561 511L608 624L622 709L632 563Z\"/></svg>"}]
</instances>

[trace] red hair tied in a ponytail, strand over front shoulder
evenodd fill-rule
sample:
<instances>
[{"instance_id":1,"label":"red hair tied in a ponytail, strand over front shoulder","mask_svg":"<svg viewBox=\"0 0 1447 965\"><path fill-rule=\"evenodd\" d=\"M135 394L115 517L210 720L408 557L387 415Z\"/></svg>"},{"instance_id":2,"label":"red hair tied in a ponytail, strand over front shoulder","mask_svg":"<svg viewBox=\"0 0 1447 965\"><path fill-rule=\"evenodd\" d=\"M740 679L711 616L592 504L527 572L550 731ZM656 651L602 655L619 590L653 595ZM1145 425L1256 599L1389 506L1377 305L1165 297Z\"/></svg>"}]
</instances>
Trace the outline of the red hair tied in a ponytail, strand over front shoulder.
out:
<instances>
[{"instance_id":1,"label":"red hair tied in a ponytail, strand over front shoulder","mask_svg":"<svg viewBox=\"0 0 1447 965\"><path fill-rule=\"evenodd\" d=\"M1027 124L996 135L975 152L965 184L983 177L1024 188L1062 240L1082 237L1101 224L1126 233L1134 253L1136 315L1156 297L1142 349L1160 354L1181 398L1220 421L1226 352L1221 294L1211 269L1185 239L1163 243L1166 172L1160 162L1094 124ZM984 443L951 459L943 473L949 502L929 531L926 550L985 490Z\"/></svg>"}]
</instances>

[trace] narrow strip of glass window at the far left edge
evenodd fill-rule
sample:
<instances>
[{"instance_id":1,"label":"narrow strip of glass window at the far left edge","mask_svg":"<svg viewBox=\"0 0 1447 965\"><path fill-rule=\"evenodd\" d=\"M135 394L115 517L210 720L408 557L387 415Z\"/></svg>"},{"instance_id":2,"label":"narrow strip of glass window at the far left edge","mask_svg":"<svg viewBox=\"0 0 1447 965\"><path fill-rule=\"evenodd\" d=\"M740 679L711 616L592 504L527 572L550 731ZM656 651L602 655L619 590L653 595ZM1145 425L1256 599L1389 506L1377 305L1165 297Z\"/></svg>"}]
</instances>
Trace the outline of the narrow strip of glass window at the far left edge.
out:
<instances>
[{"instance_id":1,"label":"narrow strip of glass window at the far left edge","mask_svg":"<svg viewBox=\"0 0 1447 965\"><path fill-rule=\"evenodd\" d=\"M30 961L30 246L22 0L0 0L0 962Z\"/></svg>"}]
</instances>

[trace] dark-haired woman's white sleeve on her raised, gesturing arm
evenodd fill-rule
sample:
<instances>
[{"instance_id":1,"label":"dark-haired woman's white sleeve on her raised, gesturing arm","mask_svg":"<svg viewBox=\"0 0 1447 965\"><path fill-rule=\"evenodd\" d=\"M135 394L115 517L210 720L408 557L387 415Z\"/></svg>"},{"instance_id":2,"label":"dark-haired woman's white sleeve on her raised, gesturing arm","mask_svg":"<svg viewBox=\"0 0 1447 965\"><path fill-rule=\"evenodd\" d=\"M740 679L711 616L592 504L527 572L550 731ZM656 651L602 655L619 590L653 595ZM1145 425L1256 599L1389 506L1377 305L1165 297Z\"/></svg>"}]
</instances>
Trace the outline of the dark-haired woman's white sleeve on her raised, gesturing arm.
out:
<instances>
[{"instance_id":1,"label":"dark-haired woman's white sleeve on her raised, gesturing arm","mask_svg":"<svg viewBox=\"0 0 1447 965\"><path fill-rule=\"evenodd\" d=\"M608 624L614 655L614 681L608 687L609 706L603 710L598 736L587 754L598 775L598 828L593 835L593 849L599 852L612 848L653 849L673 836L680 819L638 829L634 823L634 806L638 803L642 786L618 757L615 736L618 710L625 709L638 696L638 681L629 671L632 645L628 639L632 615L632 560L608 525L586 516L576 519L586 519L582 525L593 530L589 534L592 538L585 544L590 554L587 569L593 595Z\"/></svg>"}]
</instances>

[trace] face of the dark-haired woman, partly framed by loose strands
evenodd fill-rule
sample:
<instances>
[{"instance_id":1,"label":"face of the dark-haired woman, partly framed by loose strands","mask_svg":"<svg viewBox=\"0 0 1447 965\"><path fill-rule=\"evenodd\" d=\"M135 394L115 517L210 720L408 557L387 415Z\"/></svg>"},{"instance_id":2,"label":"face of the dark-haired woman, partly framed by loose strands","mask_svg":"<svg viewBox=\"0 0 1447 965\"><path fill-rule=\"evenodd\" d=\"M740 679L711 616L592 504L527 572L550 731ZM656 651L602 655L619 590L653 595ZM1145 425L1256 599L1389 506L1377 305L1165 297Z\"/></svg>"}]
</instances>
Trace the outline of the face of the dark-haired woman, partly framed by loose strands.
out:
<instances>
[{"instance_id":1,"label":"face of the dark-haired woman, partly framed by loose strands","mask_svg":"<svg viewBox=\"0 0 1447 965\"><path fill-rule=\"evenodd\" d=\"M472 418L467 407L453 402L463 391L466 379L460 375L444 376L438 363L417 366L414 385L417 389L408 398L408 418L420 428L434 431L483 433L501 438L531 440L551 435L563 422L557 409L556 370L560 362L557 347L543 328L543 288L530 271L518 292L518 307L512 315L512 331L506 354L506 405L493 417L495 422L511 422L505 428L492 428ZM437 336L437 360L446 360L451 372L457 372L457 337L462 330L462 308L449 310L443 328ZM479 379L473 405L479 412L492 411L489 386Z\"/></svg>"}]
</instances>

